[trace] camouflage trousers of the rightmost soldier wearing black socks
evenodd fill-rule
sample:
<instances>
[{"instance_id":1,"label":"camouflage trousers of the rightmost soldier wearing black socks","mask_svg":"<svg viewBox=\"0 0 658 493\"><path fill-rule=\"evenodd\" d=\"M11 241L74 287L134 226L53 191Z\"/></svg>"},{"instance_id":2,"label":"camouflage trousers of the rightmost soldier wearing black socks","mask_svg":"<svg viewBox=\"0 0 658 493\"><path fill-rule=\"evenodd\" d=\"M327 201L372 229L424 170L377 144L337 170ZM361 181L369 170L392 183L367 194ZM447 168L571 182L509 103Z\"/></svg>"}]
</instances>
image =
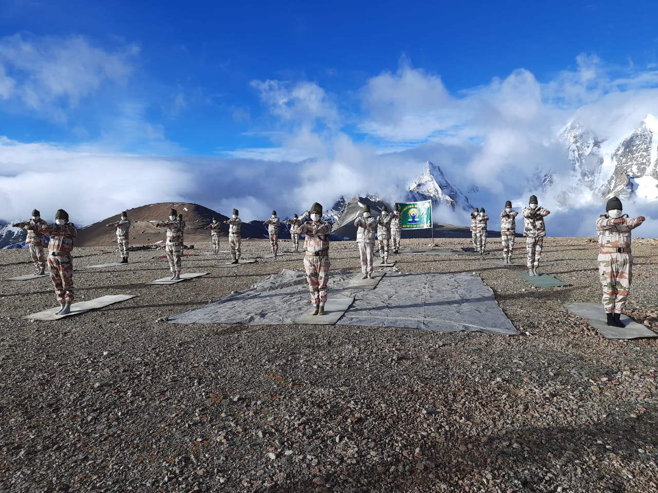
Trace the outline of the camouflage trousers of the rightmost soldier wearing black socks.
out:
<instances>
[{"instance_id":1,"label":"camouflage trousers of the rightmost soldier wearing black socks","mask_svg":"<svg viewBox=\"0 0 658 493\"><path fill-rule=\"evenodd\" d=\"M620 314L633 278L633 256L630 253L600 253L597 261L605 313Z\"/></svg>"}]
</instances>

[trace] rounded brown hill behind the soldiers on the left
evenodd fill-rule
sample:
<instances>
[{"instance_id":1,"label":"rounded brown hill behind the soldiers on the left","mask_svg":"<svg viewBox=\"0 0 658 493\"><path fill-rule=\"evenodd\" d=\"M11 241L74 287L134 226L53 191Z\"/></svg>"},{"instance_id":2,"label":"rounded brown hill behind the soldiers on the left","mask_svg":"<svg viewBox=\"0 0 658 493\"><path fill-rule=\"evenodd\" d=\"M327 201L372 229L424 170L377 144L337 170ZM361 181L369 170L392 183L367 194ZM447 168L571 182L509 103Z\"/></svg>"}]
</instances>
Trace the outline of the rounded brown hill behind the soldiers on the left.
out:
<instances>
[{"instance_id":1,"label":"rounded brown hill behind the soldiers on the left","mask_svg":"<svg viewBox=\"0 0 658 493\"><path fill-rule=\"evenodd\" d=\"M169 209L174 208L178 214L183 214L183 220L186 223L185 243L190 245L195 241L210 241L210 231L203 229L204 226L211 223L213 218L219 222L228 219L224 214L215 210L191 204L189 202L163 202L160 204L147 204L141 207L128 209L128 219L132 222L130 227L130 243L132 245L148 245L163 241L166 237L165 230L155 227L153 222L166 221L169 216ZM116 245L116 229L107 227L107 224L119 220L121 211L115 216L105 218L97 223L90 224L78 230L76 238L76 247L108 247ZM266 233L265 227L259 227L258 222L242 224L243 238L263 238ZM228 225L222 224L222 236L228 235Z\"/></svg>"}]
</instances>

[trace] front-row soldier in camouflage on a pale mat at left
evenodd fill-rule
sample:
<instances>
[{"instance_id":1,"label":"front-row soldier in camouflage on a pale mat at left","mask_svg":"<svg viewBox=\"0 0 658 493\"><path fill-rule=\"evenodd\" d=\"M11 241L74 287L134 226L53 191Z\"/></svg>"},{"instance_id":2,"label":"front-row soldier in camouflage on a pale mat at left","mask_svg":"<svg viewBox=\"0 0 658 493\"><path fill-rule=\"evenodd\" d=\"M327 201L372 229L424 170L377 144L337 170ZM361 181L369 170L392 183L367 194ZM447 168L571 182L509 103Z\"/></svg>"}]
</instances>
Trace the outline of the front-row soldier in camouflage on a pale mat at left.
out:
<instances>
[{"instance_id":1,"label":"front-row soldier in camouflage on a pale mat at left","mask_svg":"<svg viewBox=\"0 0 658 493\"><path fill-rule=\"evenodd\" d=\"M75 299L73 287L73 243L78 235L78 229L68 222L68 213L59 209L55 212L55 224L29 224L29 231L41 231L50 235L48 242L48 270L50 279L55 286L55 297L61 308L59 315L71 312L71 304Z\"/></svg>"}]
</instances>

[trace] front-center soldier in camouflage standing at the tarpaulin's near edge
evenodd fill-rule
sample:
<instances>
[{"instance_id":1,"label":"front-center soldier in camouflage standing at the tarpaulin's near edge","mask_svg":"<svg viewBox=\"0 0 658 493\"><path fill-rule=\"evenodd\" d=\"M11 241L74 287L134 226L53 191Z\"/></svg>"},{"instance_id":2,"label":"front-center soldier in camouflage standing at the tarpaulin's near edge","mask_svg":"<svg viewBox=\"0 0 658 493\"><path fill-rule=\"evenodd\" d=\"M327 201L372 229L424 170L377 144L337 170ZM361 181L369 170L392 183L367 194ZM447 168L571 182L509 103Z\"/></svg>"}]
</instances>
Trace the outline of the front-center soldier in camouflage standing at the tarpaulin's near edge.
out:
<instances>
[{"instance_id":1,"label":"front-center soldier in camouflage standing at the tarpaulin's near edge","mask_svg":"<svg viewBox=\"0 0 658 493\"><path fill-rule=\"evenodd\" d=\"M311 222L299 226L299 234L306 235L304 240L304 270L309 281L311 303L315 306L311 315L324 315L327 301L327 283L329 282L329 235L331 224L322 222L322 206L315 202L311 206Z\"/></svg>"}]
</instances>

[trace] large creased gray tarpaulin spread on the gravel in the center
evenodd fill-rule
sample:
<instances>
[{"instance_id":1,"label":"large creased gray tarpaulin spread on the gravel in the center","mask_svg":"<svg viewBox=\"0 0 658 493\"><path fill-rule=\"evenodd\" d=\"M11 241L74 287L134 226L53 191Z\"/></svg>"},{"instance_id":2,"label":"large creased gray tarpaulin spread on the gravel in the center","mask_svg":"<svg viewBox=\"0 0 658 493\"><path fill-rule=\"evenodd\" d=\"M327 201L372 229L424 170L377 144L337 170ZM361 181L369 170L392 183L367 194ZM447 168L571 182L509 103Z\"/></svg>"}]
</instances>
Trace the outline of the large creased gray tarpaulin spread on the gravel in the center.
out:
<instances>
[{"instance_id":1,"label":"large creased gray tarpaulin spread on the gravel in the center","mask_svg":"<svg viewBox=\"0 0 658 493\"><path fill-rule=\"evenodd\" d=\"M354 297L338 325L409 327L439 332L484 331L515 335L493 291L478 275L387 273L376 289L345 289L353 273L332 271L329 297ZM283 270L251 289L170 317L174 323L295 323L311 304L306 277Z\"/></svg>"}]
</instances>

